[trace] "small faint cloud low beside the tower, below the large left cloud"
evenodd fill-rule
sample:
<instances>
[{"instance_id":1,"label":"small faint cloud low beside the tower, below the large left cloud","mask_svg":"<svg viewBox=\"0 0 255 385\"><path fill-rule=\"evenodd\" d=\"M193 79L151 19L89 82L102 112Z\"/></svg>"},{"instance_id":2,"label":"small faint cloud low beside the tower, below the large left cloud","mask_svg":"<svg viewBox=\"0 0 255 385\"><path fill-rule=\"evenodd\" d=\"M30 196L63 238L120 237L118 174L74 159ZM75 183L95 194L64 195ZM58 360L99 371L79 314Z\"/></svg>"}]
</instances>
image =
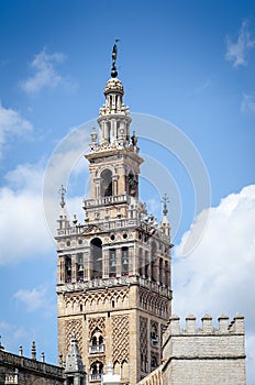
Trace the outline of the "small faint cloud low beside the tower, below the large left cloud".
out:
<instances>
[{"instance_id":1,"label":"small faint cloud low beside the tower, below the large left cloud","mask_svg":"<svg viewBox=\"0 0 255 385\"><path fill-rule=\"evenodd\" d=\"M32 290L20 289L13 297L21 301L29 312L47 307L45 287L33 288Z\"/></svg>"}]
</instances>

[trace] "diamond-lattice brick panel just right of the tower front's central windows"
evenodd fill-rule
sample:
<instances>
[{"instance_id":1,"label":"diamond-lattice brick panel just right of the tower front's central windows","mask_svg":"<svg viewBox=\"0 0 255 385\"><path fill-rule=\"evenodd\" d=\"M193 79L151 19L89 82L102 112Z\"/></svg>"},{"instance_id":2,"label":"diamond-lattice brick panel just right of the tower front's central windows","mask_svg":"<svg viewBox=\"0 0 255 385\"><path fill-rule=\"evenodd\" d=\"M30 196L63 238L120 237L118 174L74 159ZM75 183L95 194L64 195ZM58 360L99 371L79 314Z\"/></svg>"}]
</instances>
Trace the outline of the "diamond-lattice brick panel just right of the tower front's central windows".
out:
<instances>
[{"instance_id":1,"label":"diamond-lattice brick panel just right of the tower front's central windows","mask_svg":"<svg viewBox=\"0 0 255 385\"><path fill-rule=\"evenodd\" d=\"M122 363L130 360L129 316L112 317L113 361Z\"/></svg>"}]
</instances>

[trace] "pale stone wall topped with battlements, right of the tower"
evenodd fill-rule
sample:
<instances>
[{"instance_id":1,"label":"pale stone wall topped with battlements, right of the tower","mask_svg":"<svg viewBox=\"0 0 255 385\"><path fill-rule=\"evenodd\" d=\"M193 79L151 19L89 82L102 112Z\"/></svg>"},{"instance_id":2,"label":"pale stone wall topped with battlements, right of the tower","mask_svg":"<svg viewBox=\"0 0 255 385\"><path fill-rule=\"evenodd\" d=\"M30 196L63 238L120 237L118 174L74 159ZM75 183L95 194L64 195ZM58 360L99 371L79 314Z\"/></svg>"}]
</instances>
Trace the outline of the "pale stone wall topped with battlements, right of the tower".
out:
<instances>
[{"instance_id":1,"label":"pale stone wall topped with battlements, right of the tower","mask_svg":"<svg viewBox=\"0 0 255 385\"><path fill-rule=\"evenodd\" d=\"M196 317L189 316L181 329L179 318L171 316L164 333L163 358L164 384L244 385L244 317L236 315L229 323L223 315L213 328L212 318L206 315L197 328Z\"/></svg>"}]
</instances>

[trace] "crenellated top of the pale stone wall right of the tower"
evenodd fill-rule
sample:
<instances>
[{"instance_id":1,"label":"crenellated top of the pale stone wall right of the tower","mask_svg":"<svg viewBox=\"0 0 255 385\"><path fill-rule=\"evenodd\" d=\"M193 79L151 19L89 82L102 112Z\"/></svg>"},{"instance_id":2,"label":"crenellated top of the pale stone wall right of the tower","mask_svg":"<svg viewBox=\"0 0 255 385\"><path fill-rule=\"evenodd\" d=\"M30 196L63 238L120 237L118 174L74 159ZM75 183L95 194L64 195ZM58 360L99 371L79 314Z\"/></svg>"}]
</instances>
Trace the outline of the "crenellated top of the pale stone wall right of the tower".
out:
<instances>
[{"instance_id":1,"label":"crenellated top of the pale stone wall right of the tower","mask_svg":"<svg viewBox=\"0 0 255 385\"><path fill-rule=\"evenodd\" d=\"M204 315L201 318L201 327L197 326L197 318L193 315L186 317L186 328L180 327L180 318L173 315L167 323L166 332L164 333L165 344L169 336L220 336L220 334L244 334L244 316L236 314L230 322L226 315L221 315L218 318L218 327L212 326L212 317Z\"/></svg>"}]
</instances>

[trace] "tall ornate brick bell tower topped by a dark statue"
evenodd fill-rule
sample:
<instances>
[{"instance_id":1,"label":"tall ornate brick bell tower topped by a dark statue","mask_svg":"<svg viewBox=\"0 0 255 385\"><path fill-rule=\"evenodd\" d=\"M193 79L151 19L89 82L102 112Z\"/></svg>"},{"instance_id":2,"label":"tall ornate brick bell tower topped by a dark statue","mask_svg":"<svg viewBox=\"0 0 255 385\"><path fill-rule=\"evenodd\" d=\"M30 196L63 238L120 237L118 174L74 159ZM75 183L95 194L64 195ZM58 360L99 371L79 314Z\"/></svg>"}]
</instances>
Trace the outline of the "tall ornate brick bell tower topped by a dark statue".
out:
<instances>
[{"instance_id":1,"label":"tall ornate brick bell tower topped by a dark statue","mask_svg":"<svg viewBox=\"0 0 255 385\"><path fill-rule=\"evenodd\" d=\"M91 133L90 198L85 223L65 215L57 229L58 353L65 361L75 333L87 384L100 384L109 363L121 384L135 385L160 364L170 317L170 226L140 201L143 163L112 51L111 78Z\"/></svg>"}]
</instances>

